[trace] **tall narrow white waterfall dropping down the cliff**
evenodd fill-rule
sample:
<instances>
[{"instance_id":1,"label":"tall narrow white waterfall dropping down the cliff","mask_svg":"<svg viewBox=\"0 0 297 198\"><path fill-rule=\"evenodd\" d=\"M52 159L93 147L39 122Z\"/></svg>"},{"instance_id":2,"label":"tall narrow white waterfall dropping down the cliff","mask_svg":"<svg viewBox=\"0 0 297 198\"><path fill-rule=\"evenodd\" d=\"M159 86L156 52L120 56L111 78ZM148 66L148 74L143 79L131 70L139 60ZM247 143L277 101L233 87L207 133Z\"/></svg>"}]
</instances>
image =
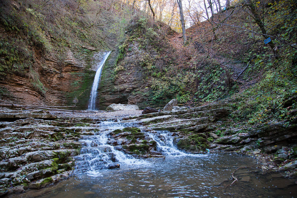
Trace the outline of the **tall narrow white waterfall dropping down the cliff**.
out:
<instances>
[{"instance_id":1,"label":"tall narrow white waterfall dropping down the cliff","mask_svg":"<svg viewBox=\"0 0 297 198\"><path fill-rule=\"evenodd\" d=\"M103 67L106 59L108 58L109 54L110 54L110 52L106 52L105 55L103 56L103 59L97 64L98 69L96 71L96 75L95 75L94 82L92 85L88 110L95 110L95 107L96 107L95 102L96 102L96 97L97 97L97 89L98 89L98 84L99 84L99 80L100 80L100 76L101 76L101 71L102 71L102 67Z\"/></svg>"}]
</instances>

